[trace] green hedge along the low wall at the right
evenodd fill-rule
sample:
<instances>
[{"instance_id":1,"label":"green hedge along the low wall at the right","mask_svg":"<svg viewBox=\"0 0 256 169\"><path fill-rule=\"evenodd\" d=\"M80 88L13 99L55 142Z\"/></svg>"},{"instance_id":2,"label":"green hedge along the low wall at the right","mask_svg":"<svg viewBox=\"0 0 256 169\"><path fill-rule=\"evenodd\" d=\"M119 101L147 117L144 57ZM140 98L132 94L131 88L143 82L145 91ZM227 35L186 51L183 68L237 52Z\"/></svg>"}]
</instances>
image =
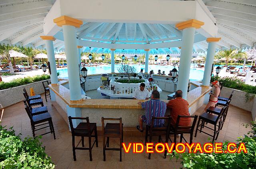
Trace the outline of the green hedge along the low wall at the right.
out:
<instances>
[{"instance_id":1,"label":"green hedge along the low wall at the right","mask_svg":"<svg viewBox=\"0 0 256 169\"><path fill-rule=\"evenodd\" d=\"M256 94L256 86L251 86L245 84L241 79L238 77L211 77L211 82L219 81L220 84L227 88L234 88L237 90L242 90L249 94Z\"/></svg>"}]
</instances>

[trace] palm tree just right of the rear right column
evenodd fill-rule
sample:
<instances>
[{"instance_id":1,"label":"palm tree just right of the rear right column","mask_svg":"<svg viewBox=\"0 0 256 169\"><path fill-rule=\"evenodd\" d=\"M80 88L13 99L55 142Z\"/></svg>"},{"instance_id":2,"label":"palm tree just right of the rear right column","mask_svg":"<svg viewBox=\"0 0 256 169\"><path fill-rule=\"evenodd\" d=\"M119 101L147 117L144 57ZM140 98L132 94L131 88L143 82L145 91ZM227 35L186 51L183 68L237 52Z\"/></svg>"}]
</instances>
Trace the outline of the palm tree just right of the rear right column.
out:
<instances>
[{"instance_id":1,"label":"palm tree just right of the rear right column","mask_svg":"<svg viewBox=\"0 0 256 169\"><path fill-rule=\"evenodd\" d=\"M242 56L243 57L245 56L244 52L238 51L236 49L228 49L228 50L224 50L224 51L219 51L217 53L217 55L219 55L219 57L221 57L221 58L225 58L226 65L228 65L228 62L231 59L241 58Z\"/></svg>"}]
</instances>

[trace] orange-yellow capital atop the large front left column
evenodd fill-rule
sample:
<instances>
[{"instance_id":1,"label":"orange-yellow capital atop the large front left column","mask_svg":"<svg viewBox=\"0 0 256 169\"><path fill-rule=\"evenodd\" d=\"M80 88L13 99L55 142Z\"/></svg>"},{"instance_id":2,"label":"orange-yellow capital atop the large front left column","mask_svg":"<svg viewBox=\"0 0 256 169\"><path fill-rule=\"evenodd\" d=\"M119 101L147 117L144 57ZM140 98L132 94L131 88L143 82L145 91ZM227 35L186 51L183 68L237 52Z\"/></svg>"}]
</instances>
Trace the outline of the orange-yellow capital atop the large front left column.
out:
<instances>
[{"instance_id":1,"label":"orange-yellow capital atop the large front left column","mask_svg":"<svg viewBox=\"0 0 256 169\"><path fill-rule=\"evenodd\" d=\"M62 27L63 25L70 25L70 26L74 26L76 28L80 28L80 25L83 24L83 22L81 20L77 20L75 18L71 18L71 17L65 16L65 15L55 18L53 20L53 22L60 27Z\"/></svg>"}]
</instances>

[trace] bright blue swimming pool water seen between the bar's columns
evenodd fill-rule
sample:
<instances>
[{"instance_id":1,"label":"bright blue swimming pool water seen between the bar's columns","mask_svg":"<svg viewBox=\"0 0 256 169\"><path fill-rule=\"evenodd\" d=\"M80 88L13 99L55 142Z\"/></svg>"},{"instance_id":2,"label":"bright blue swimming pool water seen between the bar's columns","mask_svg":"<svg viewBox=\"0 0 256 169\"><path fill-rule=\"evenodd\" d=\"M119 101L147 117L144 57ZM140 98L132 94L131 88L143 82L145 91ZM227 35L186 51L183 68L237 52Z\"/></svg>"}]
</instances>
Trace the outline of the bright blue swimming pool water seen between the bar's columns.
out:
<instances>
[{"instance_id":1,"label":"bright blue swimming pool water seen between the bar's columns","mask_svg":"<svg viewBox=\"0 0 256 169\"><path fill-rule=\"evenodd\" d=\"M115 65L115 72L118 73L118 67L121 65ZM139 72L140 69L145 69L145 65L132 65L136 68L136 70ZM165 74L168 75L169 71L171 71L174 67L169 66L169 65L148 65L148 71L153 70L154 73L156 74L158 70L160 69L161 72L165 71ZM92 74L101 74L101 73L111 73L111 65L102 65L98 67L86 67L88 69L88 75ZM178 67L176 67L178 69ZM57 72L60 72L59 77L68 77L68 69L61 69L58 70ZM191 65L190 69L190 81L198 81L202 80L204 77L204 70L197 70L193 69L193 65Z\"/></svg>"}]
</instances>

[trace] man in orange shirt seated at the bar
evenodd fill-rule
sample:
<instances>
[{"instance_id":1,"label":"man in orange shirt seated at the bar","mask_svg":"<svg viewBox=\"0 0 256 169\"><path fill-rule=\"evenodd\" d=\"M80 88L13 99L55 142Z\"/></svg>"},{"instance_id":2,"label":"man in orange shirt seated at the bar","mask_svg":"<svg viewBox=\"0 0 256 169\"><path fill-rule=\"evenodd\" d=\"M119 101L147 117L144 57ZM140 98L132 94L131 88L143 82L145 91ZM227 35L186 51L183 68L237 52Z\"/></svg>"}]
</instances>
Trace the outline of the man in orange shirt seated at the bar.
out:
<instances>
[{"instance_id":1,"label":"man in orange shirt seated at the bar","mask_svg":"<svg viewBox=\"0 0 256 169\"><path fill-rule=\"evenodd\" d=\"M170 115L172 117L171 124L173 127L176 125L176 121L178 118L178 115L181 116L190 116L188 111L188 101L184 100L182 98L182 91L177 90L175 92L175 99L170 100L166 106L170 108ZM179 122L179 126L190 126L191 120L190 118L182 119L182 121Z\"/></svg>"}]
</instances>

